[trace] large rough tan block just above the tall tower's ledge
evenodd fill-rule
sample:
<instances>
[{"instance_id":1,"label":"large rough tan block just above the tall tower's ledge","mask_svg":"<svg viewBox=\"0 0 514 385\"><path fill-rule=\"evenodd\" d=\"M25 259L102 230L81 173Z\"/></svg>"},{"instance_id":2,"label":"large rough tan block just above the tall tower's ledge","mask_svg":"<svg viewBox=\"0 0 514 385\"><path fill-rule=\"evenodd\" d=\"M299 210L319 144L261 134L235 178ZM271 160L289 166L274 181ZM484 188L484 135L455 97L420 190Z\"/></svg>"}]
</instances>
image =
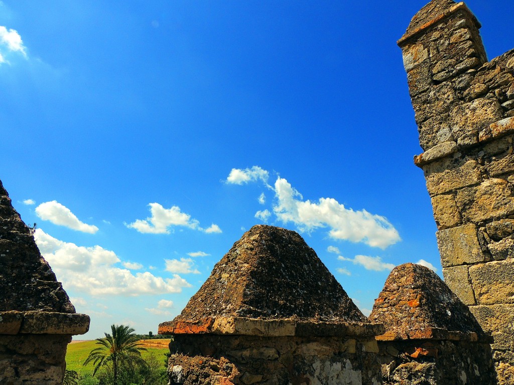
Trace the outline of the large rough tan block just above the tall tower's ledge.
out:
<instances>
[{"instance_id":1,"label":"large rough tan block just above the tall tower's ledge","mask_svg":"<svg viewBox=\"0 0 514 385\"><path fill-rule=\"evenodd\" d=\"M476 99L471 103L455 105L450 111L450 124L455 138L476 137L491 123L502 119L502 108L497 100Z\"/></svg>"}]
</instances>

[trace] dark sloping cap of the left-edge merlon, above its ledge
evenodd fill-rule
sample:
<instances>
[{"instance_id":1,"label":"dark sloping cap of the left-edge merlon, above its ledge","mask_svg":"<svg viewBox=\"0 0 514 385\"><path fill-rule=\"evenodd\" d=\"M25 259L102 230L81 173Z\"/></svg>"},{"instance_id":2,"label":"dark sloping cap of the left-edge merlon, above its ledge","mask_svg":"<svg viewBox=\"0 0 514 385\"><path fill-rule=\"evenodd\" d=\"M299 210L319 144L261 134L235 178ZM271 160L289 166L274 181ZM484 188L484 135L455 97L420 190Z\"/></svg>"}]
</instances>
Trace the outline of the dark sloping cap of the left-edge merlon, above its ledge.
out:
<instances>
[{"instance_id":1,"label":"dark sloping cap of the left-edge merlon, above its ledge","mask_svg":"<svg viewBox=\"0 0 514 385\"><path fill-rule=\"evenodd\" d=\"M0 312L75 313L0 181Z\"/></svg>"}]
</instances>

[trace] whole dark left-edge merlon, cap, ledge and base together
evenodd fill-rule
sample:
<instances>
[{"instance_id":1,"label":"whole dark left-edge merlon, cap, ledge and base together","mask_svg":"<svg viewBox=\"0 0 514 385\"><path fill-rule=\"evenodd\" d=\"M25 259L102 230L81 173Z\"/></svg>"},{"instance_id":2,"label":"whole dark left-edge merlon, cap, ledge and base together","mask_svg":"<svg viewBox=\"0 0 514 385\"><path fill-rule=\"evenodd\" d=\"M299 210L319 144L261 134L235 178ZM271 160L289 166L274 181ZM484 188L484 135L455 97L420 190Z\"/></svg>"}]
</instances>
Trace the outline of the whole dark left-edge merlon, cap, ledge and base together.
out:
<instances>
[{"instance_id":1,"label":"whole dark left-edge merlon, cap, ledge and base together","mask_svg":"<svg viewBox=\"0 0 514 385\"><path fill-rule=\"evenodd\" d=\"M67 344L88 329L0 181L0 384L62 384Z\"/></svg>"}]
</instances>

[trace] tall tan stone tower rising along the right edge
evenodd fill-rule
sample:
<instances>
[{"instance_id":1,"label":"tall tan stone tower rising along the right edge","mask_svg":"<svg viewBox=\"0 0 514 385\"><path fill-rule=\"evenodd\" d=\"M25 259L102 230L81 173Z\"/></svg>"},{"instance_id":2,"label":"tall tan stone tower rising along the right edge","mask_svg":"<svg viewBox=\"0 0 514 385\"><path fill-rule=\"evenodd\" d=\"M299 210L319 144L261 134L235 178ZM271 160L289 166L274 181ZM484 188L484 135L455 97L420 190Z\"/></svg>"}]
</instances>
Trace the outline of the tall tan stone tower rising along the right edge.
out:
<instances>
[{"instance_id":1,"label":"tall tan stone tower rising along the right edge","mask_svg":"<svg viewBox=\"0 0 514 385\"><path fill-rule=\"evenodd\" d=\"M425 151L443 275L514 383L514 50L487 61L464 3L433 0L398 41Z\"/></svg>"}]
</instances>

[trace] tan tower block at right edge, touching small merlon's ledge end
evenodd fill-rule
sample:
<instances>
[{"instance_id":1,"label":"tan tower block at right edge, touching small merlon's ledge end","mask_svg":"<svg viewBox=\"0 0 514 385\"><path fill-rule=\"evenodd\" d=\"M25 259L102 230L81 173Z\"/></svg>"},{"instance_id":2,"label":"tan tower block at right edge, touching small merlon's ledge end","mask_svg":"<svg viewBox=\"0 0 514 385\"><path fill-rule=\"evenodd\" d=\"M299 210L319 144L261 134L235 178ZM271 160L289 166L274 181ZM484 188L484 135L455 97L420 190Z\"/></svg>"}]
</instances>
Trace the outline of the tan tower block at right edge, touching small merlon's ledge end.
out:
<instances>
[{"instance_id":1,"label":"tan tower block at right edge, touching small merlon's ledge end","mask_svg":"<svg viewBox=\"0 0 514 385\"><path fill-rule=\"evenodd\" d=\"M484 331L491 333L494 338L492 349L514 350L514 305L479 305L470 306L469 309Z\"/></svg>"}]
</instances>

